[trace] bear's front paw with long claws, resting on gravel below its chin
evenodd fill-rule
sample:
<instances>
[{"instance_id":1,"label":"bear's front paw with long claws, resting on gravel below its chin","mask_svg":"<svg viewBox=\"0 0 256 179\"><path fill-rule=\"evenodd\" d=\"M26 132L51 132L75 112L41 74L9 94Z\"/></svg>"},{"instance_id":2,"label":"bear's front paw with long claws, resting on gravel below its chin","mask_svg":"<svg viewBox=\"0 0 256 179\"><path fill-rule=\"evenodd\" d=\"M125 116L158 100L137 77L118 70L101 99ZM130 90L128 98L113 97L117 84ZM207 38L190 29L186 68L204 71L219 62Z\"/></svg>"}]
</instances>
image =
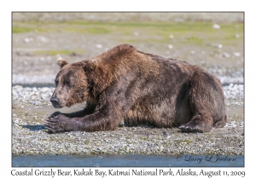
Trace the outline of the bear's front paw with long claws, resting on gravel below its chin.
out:
<instances>
[{"instance_id":1,"label":"bear's front paw with long claws, resting on gravel below its chin","mask_svg":"<svg viewBox=\"0 0 256 179\"><path fill-rule=\"evenodd\" d=\"M50 134L70 131L69 127L70 118L67 118L63 114L57 116L51 115L45 124Z\"/></svg>"}]
</instances>

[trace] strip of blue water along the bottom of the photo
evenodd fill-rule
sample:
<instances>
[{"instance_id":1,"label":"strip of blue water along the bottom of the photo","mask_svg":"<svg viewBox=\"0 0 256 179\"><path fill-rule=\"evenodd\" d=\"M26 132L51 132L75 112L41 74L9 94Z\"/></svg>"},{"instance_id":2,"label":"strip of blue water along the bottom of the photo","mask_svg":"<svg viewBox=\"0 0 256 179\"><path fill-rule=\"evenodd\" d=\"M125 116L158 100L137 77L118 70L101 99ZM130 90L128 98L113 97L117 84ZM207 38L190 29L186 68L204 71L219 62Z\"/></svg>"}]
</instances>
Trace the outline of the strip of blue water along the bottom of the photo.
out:
<instances>
[{"instance_id":1,"label":"strip of blue water along the bottom of the photo","mask_svg":"<svg viewBox=\"0 0 256 179\"><path fill-rule=\"evenodd\" d=\"M90 167L243 167L243 155L183 155L183 156L152 156L152 155L18 155L12 157L12 166L90 166Z\"/></svg>"}]
</instances>

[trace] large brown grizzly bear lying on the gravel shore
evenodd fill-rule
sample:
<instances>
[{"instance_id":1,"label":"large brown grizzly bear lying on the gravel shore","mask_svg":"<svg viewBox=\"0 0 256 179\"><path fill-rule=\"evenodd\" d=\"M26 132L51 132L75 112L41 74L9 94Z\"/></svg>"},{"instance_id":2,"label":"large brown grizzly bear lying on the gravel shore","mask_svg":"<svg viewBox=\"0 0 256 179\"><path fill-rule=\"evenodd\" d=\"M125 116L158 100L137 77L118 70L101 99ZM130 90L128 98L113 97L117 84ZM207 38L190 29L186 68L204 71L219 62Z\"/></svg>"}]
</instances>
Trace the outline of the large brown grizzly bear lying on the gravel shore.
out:
<instances>
[{"instance_id":1,"label":"large brown grizzly bear lying on the gravel shore","mask_svg":"<svg viewBox=\"0 0 256 179\"><path fill-rule=\"evenodd\" d=\"M179 127L207 132L224 127L224 92L217 78L184 61L138 51L121 44L90 60L67 63L50 98L55 108L86 101L78 113L51 115L49 133L115 130L125 124Z\"/></svg>"}]
</instances>

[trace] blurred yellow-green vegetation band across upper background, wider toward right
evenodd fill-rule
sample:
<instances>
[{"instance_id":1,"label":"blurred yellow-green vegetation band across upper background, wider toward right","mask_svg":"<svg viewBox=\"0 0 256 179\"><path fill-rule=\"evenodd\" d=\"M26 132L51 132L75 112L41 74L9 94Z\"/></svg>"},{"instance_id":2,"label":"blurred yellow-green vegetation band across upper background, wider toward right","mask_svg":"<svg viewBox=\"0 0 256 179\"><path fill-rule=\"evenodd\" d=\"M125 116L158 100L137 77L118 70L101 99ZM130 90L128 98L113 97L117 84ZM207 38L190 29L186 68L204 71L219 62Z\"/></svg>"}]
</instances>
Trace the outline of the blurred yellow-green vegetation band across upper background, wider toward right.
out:
<instances>
[{"instance_id":1,"label":"blurred yellow-green vegetation band across upper background, wider toward right","mask_svg":"<svg viewBox=\"0 0 256 179\"><path fill-rule=\"evenodd\" d=\"M243 23L219 24L214 29L210 22L108 22L72 20L66 22L13 22L13 33L74 32L92 35L111 35L119 43L178 43L203 45L223 43L234 45L243 38ZM137 33L137 35L136 35ZM139 34L139 35L138 35ZM236 38L239 34L240 39ZM174 38L170 38L172 35ZM176 38L178 37L178 38Z\"/></svg>"}]
</instances>

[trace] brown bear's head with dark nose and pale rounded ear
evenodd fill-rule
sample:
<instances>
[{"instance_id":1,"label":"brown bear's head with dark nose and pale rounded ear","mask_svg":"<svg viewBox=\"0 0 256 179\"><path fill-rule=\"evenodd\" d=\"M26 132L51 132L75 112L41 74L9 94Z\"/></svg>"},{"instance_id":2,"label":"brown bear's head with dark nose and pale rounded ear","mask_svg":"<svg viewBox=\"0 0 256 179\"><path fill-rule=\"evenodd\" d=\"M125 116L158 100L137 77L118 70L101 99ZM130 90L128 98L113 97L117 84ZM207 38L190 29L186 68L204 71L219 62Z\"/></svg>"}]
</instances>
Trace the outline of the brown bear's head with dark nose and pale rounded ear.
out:
<instances>
[{"instance_id":1,"label":"brown bear's head with dark nose and pale rounded ear","mask_svg":"<svg viewBox=\"0 0 256 179\"><path fill-rule=\"evenodd\" d=\"M55 108L71 107L75 103L87 101L88 81L84 72L84 63L67 63L63 58L57 60L61 71L55 78L55 91L50 98Z\"/></svg>"}]
</instances>

